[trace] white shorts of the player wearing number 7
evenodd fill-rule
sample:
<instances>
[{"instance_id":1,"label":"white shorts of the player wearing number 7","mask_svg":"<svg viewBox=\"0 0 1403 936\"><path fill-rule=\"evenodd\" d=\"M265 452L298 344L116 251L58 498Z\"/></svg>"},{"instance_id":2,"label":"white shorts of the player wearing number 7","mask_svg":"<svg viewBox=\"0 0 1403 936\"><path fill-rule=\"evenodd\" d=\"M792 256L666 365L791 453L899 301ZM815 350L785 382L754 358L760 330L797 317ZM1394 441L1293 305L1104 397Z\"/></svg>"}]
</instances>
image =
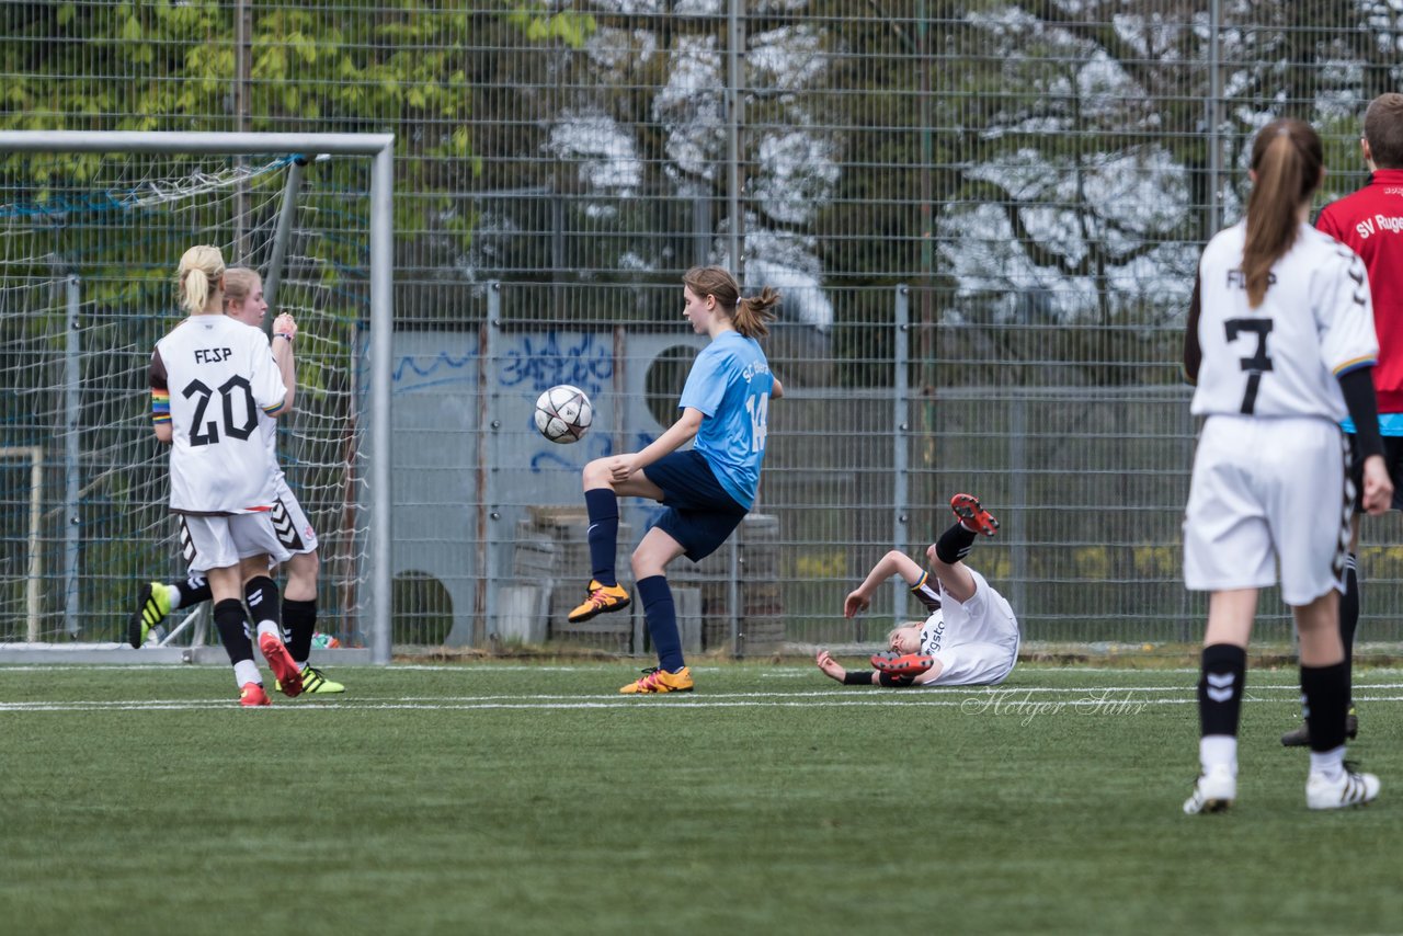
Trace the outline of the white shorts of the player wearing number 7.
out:
<instances>
[{"instance_id":1,"label":"white shorts of the player wearing number 7","mask_svg":"<svg viewBox=\"0 0 1403 936\"><path fill-rule=\"evenodd\" d=\"M1184 584L1267 588L1280 564L1288 605L1344 591L1347 457L1344 434L1324 420L1209 417L1184 509Z\"/></svg>"}]
</instances>

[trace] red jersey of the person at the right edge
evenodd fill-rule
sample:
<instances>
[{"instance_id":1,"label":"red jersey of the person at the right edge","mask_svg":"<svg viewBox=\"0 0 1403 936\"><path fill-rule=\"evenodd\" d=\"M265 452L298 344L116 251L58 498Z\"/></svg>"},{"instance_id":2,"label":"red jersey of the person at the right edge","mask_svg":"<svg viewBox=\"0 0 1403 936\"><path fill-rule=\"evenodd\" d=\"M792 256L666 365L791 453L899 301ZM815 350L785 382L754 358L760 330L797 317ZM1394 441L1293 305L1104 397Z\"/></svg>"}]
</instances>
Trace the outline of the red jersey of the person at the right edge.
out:
<instances>
[{"instance_id":1,"label":"red jersey of the person at the right edge","mask_svg":"<svg viewBox=\"0 0 1403 936\"><path fill-rule=\"evenodd\" d=\"M1316 227L1364 258L1379 337L1379 413L1403 413L1403 168L1375 170L1368 185L1326 205Z\"/></svg>"}]
</instances>

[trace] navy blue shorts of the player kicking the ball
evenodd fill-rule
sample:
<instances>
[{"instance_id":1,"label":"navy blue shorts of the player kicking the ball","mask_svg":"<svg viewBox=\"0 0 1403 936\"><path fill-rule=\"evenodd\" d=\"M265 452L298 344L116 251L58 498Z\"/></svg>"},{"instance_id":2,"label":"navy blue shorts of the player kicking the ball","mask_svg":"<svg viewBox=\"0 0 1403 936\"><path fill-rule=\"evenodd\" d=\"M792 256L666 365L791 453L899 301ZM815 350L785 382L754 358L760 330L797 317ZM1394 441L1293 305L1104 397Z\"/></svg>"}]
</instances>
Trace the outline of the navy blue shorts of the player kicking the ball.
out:
<instances>
[{"instance_id":1,"label":"navy blue shorts of the player kicking the ball","mask_svg":"<svg viewBox=\"0 0 1403 936\"><path fill-rule=\"evenodd\" d=\"M725 493L694 449L669 452L643 474L662 488L662 505L668 508L654 526L678 540L693 563L714 553L748 512Z\"/></svg>"}]
</instances>

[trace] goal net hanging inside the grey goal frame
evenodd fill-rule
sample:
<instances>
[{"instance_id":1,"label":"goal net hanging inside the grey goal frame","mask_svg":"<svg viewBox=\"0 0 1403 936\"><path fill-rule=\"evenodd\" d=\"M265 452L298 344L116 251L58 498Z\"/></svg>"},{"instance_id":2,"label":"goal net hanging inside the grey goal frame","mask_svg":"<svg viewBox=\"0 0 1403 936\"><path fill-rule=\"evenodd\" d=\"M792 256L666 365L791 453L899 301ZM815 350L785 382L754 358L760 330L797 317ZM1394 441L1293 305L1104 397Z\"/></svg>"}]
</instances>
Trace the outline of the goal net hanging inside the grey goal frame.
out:
<instances>
[{"instance_id":1,"label":"goal net hanging inside the grey goal frame","mask_svg":"<svg viewBox=\"0 0 1403 936\"><path fill-rule=\"evenodd\" d=\"M195 244L262 274L265 327L297 320L279 457L320 540L318 629L368 646L372 160L0 159L0 646L123 641L139 584L184 577L147 365L184 316L175 267Z\"/></svg>"}]
</instances>

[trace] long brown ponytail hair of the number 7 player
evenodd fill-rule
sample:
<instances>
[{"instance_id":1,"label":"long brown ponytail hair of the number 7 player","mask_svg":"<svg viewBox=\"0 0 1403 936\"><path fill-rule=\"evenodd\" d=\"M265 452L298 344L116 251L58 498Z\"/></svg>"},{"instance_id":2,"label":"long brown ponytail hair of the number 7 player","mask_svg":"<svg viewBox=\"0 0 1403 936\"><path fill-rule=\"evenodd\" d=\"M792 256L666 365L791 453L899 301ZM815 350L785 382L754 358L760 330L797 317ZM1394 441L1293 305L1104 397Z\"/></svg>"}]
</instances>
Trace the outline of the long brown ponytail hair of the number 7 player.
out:
<instances>
[{"instance_id":1,"label":"long brown ponytail hair of the number 7 player","mask_svg":"<svg viewBox=\"0 0 1403 936\"><path fill-rule=\"evenodd\" d=\"M1303 121L1273 121L1257 133L1251 146L1257 180L1247 196L1247 241L1242 251L1247 305L1253 309L1267 296L1271 267L1296 241L1296 212L1320 185L1323 166L1320 138Z\"/></svg>"}]
</instances>

